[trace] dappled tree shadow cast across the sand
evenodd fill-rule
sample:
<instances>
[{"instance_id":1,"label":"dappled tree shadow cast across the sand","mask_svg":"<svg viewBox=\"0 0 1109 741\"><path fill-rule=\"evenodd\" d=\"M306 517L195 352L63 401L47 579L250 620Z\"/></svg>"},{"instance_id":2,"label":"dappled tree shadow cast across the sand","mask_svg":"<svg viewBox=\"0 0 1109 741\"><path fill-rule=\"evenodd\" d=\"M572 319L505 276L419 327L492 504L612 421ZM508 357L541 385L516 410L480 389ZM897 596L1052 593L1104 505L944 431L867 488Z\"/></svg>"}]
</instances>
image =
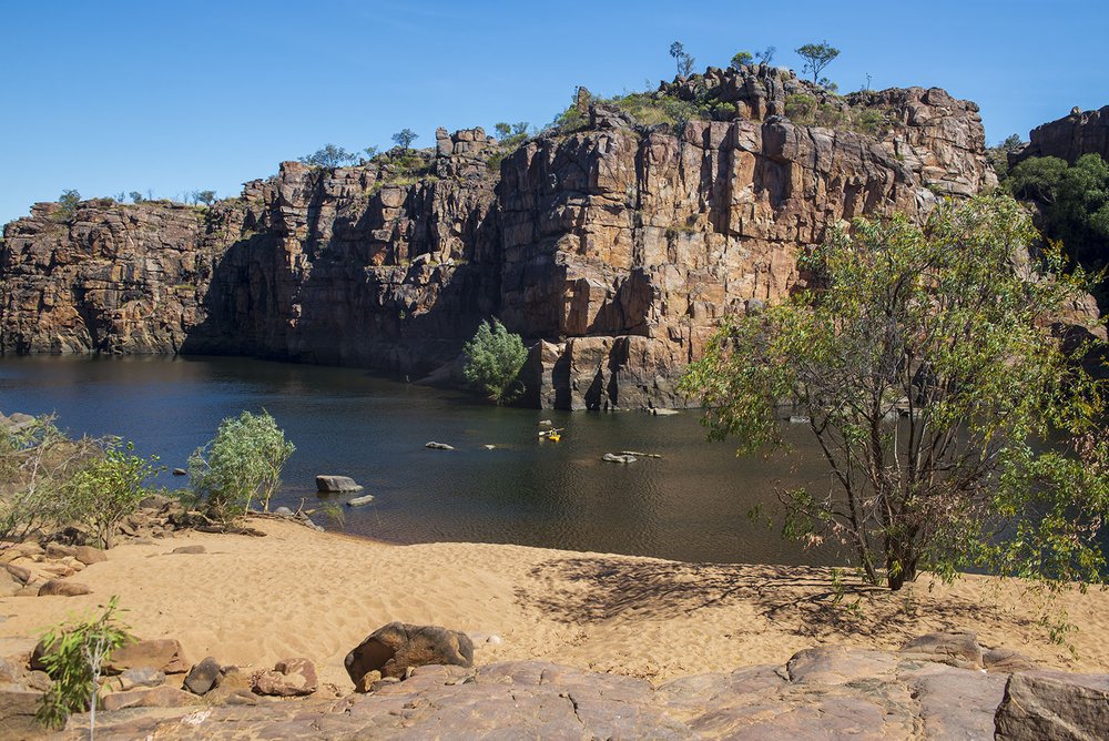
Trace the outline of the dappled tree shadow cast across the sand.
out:
<instances>
[{"instance_id":1,"label":"dappled tree shadow cast across the sand","mask_svg":"<svg viewBox=\"0 0 1109 741\"><path fill-rule=\"evenodd\" d=\"M745 603L756 613L807 638L835 636L913 638L925 629L955 629L1005 621L1028 626L998 600L945 593L924 585L899 592L874 587L828 568L632 561L620 558L552 559L536 566L517 599L567 623L652 619Z\"/></svg>"}]
</instances>

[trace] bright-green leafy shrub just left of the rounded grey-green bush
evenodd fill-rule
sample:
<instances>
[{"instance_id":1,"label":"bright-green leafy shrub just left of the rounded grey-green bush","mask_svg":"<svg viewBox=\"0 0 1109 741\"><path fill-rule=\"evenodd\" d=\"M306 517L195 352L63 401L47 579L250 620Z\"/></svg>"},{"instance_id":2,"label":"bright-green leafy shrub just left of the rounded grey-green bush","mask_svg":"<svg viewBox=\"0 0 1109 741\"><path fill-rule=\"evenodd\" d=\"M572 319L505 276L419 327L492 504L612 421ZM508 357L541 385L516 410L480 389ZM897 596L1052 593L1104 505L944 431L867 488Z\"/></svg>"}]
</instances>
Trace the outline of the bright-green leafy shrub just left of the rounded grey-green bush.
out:
<instances>
[{"instance_id":1,"label":"bright-green leafy shrub just left of the rounded grey-green bush","mask_svg":"<svg viewBox=\"0 0 1109 741\"><path fill-rule=\"evenodd\" d=\"M157 456L134 455L134 445L120 448L109 439L103 457L77 471L65 485L70 518L90 527L101 547L111 548L120 522L139 510L149 494L143 485L162 470Z\"/></svg>"}]
</instances>

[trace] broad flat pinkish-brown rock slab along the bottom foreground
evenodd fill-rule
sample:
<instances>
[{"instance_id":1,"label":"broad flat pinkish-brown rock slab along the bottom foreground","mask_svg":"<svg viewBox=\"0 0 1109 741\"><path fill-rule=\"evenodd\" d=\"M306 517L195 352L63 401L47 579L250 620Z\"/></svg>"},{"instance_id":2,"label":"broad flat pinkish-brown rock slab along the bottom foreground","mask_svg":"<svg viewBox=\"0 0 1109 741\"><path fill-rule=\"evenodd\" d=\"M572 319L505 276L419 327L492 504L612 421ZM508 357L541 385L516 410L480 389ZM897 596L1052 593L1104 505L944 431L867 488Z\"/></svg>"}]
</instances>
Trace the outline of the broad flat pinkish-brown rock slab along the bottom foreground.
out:
<instances>
[{"instance_id":1,"label":"broad flat pinkish-brown rock slab along the bottom foreground","mask_svg":"<svg viewBox=\"0 0 1109 741\"><path fill-rule=\"evenodd\" d=\"M157 739L989 739L1007 679L843 648L659 688L546 661L407 673L368 694L212 708L203 719L105 713L98 725L106 738Z\"/></svg>"}]
</instances>

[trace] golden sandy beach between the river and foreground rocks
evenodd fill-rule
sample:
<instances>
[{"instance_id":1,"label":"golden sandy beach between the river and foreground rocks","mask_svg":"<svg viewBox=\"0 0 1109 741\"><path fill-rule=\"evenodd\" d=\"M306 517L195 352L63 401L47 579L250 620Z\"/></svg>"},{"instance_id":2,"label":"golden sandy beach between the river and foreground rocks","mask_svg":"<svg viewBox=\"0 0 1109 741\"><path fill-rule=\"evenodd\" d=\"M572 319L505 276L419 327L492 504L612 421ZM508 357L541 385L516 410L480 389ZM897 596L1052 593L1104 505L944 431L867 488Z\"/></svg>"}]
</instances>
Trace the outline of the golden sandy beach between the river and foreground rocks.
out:
<instances>
[{"instance_id":1,"label":"golden sandy beach between the river and foreground rocks","mask_svg":"<svg viewBox=\"0 0 1109 741\"><path fill-rule=\"evenodd\" d=\"M477 663L542 658L648 678L780 663L817 643L896 648L940 629L1052 668L1109 667L1109 592L1057 598L1077 651L1051 643L1040 600L1015 580L927 576L899 593L848 591L831 606L825 569L693 565L484 544L395 546L254 519L264 538L189 532L124 542L72 581L82 597L0 599L0 640L33 637L120 596L141 638L170 637L186 658L272 666L303 656L321 681L350 689L348 650L400 620L475 635ZM204 554L171 554L181 546ZM859 601L857 609L851 606ZM496 635L501 641L480 642ZM11 644L11 641L9 641Z\"/></svg>"}]
</instances>

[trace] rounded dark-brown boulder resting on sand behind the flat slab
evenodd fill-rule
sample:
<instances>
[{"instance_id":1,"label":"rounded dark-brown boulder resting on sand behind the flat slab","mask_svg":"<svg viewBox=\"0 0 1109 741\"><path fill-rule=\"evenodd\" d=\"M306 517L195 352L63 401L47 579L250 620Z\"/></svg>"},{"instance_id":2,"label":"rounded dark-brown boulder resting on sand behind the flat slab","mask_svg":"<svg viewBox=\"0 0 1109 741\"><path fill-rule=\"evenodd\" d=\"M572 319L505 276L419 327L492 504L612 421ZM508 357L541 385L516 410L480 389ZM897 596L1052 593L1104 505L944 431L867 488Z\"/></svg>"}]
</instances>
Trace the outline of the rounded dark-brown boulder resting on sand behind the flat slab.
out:
<instances>
[{"instance_id":1,"label":"rounded dark-brown boulder resting on sand behind the flat slab","mask_svg":"<svg viewBox=\"0 0 1109 741\"><path fill-rule=\"evenodd\" d=\"M359 692L368 690L363 680L370 672L403 679L410 667L431 663L472 667L474 642L466 633L440 626L390 622L372 632L344 661Z\"/></svg>"}]
</instances>

